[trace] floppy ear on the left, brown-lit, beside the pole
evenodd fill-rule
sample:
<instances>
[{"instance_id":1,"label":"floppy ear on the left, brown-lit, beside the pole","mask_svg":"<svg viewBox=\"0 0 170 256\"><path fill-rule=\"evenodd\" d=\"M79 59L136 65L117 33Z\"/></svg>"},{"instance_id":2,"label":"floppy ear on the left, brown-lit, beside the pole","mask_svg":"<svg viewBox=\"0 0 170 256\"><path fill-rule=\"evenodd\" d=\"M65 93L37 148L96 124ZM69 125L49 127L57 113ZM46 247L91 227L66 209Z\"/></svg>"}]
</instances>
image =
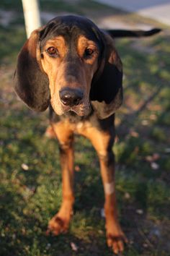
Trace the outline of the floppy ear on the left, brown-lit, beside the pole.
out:
<instances>
[{"instance_id":1,"label":"floppy ear on the left, brown-lit, beside the pole","mask_svg":"<svg viewBox=\"0 0 170 256\"><path fill-rule=\"evenodd\" d=\"M45 111L50 101L48 76L40 68L38 46L40 30L34 30L24 43L17 59L14 89L19 97L35 111Z\"/></svg>"}]
</instances>

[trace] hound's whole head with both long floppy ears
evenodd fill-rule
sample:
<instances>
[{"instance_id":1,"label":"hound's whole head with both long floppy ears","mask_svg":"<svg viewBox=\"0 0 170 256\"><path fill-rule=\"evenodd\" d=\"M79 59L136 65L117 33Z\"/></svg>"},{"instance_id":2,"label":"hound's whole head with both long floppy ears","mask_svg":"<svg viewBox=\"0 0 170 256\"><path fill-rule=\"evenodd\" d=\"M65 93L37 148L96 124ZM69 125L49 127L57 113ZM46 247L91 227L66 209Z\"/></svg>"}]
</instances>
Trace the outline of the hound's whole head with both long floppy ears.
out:
<instances>
[{"instance_id":1,"label":"hound's whole head with both long floppy ears","mask_svg":"<svg viewBox=\"0 0 170 256\"><path fill-rule=\"evenodd\" d=\"M56 114L73 111L99 119L122 103L122 64L112 38L93 22L56 17L35 30L19 53L15 90L36 111L49 103Z\"/></svg>"}]
</instances>

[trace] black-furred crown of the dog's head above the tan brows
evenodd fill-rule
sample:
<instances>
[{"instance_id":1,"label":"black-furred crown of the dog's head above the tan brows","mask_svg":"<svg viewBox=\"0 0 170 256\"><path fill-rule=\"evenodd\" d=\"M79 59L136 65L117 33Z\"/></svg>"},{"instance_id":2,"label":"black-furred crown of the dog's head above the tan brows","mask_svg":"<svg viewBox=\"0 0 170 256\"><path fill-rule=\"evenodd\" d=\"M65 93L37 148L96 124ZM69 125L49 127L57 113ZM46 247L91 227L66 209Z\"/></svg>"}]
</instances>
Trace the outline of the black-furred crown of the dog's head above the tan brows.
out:
<instances>
[{"instance_id":1,"label":"black-furred crown of the dog's head above the tan brows","mask_svg":"<svg viewBox=\"0 0 170 256\"><path fill-rule=\"evenodd\" d=\"M76 16L57 17L48 22L40 32L40 43L43 47L50 38L57 36L62 36L67 44L76 43L82 35L102 48L99 28L91 20Z\"/></svg>"}]
</instances>

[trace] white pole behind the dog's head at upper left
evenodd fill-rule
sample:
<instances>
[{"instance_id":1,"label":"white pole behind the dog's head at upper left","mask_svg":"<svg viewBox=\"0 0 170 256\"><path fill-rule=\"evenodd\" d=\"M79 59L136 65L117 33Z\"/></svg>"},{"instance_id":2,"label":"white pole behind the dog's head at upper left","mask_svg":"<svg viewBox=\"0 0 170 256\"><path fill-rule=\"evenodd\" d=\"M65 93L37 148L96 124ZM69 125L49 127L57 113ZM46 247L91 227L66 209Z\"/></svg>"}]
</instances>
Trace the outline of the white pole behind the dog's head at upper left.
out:
<instances>
[{"instance_id":1,"label":"white pole behind the dog's head at upper left","mask_svg":"<svg viewBox=\"0 0 170 256\"><path fill-rule=\"evenodd\" d=\"M29 38L32 30L41 25L38 0L22 0L22 7L27 38Z\"/></svg>"}]
</instances>

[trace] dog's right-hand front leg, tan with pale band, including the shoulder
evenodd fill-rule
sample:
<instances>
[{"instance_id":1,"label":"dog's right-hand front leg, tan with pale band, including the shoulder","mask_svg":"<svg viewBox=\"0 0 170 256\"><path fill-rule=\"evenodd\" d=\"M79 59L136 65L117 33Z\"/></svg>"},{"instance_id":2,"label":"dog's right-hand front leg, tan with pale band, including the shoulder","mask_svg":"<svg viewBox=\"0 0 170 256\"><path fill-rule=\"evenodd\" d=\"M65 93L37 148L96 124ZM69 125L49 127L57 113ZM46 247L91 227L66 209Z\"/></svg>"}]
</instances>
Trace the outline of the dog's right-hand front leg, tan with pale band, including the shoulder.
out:
<instances>
[{"instance_id":1,"label":"dog's right-hand front leg, tan with pale band, including the shoulder","mask_svg":"<svg viewBox=\"0 0 170 256\"><path fill-rule=\"evenodd\" d=\"M99 155L99 163L104 186L104 210L106 217L107 244L112 247L116 254L124 249L124 242L127 242L117 218L117 205L115 196L115 161L112 153L114 142L114 127L107 130L89 127L82 134L91 140L92 145Z\"/></svg>"}]
</instances>

